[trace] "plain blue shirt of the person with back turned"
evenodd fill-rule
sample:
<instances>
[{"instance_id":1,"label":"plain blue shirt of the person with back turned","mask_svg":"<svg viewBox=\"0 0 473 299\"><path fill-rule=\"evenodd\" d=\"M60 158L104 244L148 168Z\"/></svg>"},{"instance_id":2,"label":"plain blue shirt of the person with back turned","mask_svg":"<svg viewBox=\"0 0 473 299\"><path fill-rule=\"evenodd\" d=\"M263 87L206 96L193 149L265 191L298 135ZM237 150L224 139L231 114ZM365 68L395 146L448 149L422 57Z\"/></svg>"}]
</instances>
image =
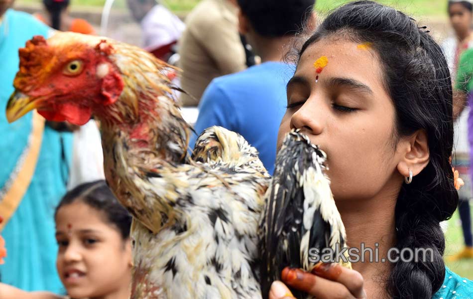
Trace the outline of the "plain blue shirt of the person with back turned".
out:
<instances>
[{"instance_id":1,"label":"plain blue shirt of the person with back turned","mask_svg":"<svg viewBox=\"0 0 473 299\"><path fill-rule=\"evenodd\" d=\"M272 175L277 133L286 112L286 85L294 69L281 62L265 62L214 79L199 104L194 128L197 135L212 126L239 133L259 151L259 158ZM192 136L191 147L196 139Z\"/></svg>"}]
</instances>

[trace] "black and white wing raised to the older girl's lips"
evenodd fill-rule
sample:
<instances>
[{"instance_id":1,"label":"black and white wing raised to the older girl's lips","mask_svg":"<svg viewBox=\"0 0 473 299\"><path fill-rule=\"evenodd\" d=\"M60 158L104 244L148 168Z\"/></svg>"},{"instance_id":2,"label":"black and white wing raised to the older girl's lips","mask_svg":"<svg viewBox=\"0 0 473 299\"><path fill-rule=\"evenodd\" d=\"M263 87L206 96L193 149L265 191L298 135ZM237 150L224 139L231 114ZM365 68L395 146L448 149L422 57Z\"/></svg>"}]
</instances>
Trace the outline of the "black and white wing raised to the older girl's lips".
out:
<instances>
[{"instance_id":1,"label":"black and white wing raised to the older girl's lips","mask_svg":"<svg viewBox=\"0 0 473 299\"><path fill-rule=\"evenodd\" d=\"M325 161L325 152L299 131L290 132L278 152L261 220L263 298L285 267L314 268L309 261L311 248L346 247L345 227L323 172Z\"/></svg>"}]
</instances>

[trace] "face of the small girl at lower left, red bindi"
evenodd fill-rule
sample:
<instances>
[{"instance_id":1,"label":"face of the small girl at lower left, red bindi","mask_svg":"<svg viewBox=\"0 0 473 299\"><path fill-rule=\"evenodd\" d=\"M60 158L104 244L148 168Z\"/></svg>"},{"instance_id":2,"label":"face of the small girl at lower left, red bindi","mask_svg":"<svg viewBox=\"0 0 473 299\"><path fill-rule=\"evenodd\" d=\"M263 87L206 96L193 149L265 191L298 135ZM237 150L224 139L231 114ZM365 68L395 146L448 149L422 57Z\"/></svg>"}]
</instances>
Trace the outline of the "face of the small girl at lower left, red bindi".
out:
<instances>
[{"instance_id":1,"label":"face of the small girl at lower left, red bindi","mask_svg":"<svg viewBox=\"0 0 473 299\"><path fill-rule=\"evenodd\" d=\"M75 201L56 215L57 270L72 298L100 298L128 287L131 246L105 215Z\"/></svg>"}]
</instances>

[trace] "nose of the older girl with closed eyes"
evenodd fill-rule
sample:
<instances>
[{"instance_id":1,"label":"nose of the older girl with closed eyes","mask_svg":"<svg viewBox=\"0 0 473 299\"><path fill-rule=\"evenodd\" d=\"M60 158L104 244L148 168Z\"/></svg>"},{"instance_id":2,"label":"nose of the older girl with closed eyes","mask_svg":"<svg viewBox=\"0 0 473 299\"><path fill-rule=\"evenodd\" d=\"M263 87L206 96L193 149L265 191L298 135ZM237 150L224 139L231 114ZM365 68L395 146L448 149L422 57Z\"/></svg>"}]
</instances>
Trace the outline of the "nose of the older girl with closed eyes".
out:
<instances>
[{"instance_id":1,"label":"nose of the older girl with closed eyes","mask_svg":"<svg viewBox=\"0 0 473 299\"><path fill-rule=\"evenodd\" d=\"M324 131L324 114L320 105L308 99L291 117L291 129L300 129L309 135L320 135Z\"/></svg>"}]
</instances>

